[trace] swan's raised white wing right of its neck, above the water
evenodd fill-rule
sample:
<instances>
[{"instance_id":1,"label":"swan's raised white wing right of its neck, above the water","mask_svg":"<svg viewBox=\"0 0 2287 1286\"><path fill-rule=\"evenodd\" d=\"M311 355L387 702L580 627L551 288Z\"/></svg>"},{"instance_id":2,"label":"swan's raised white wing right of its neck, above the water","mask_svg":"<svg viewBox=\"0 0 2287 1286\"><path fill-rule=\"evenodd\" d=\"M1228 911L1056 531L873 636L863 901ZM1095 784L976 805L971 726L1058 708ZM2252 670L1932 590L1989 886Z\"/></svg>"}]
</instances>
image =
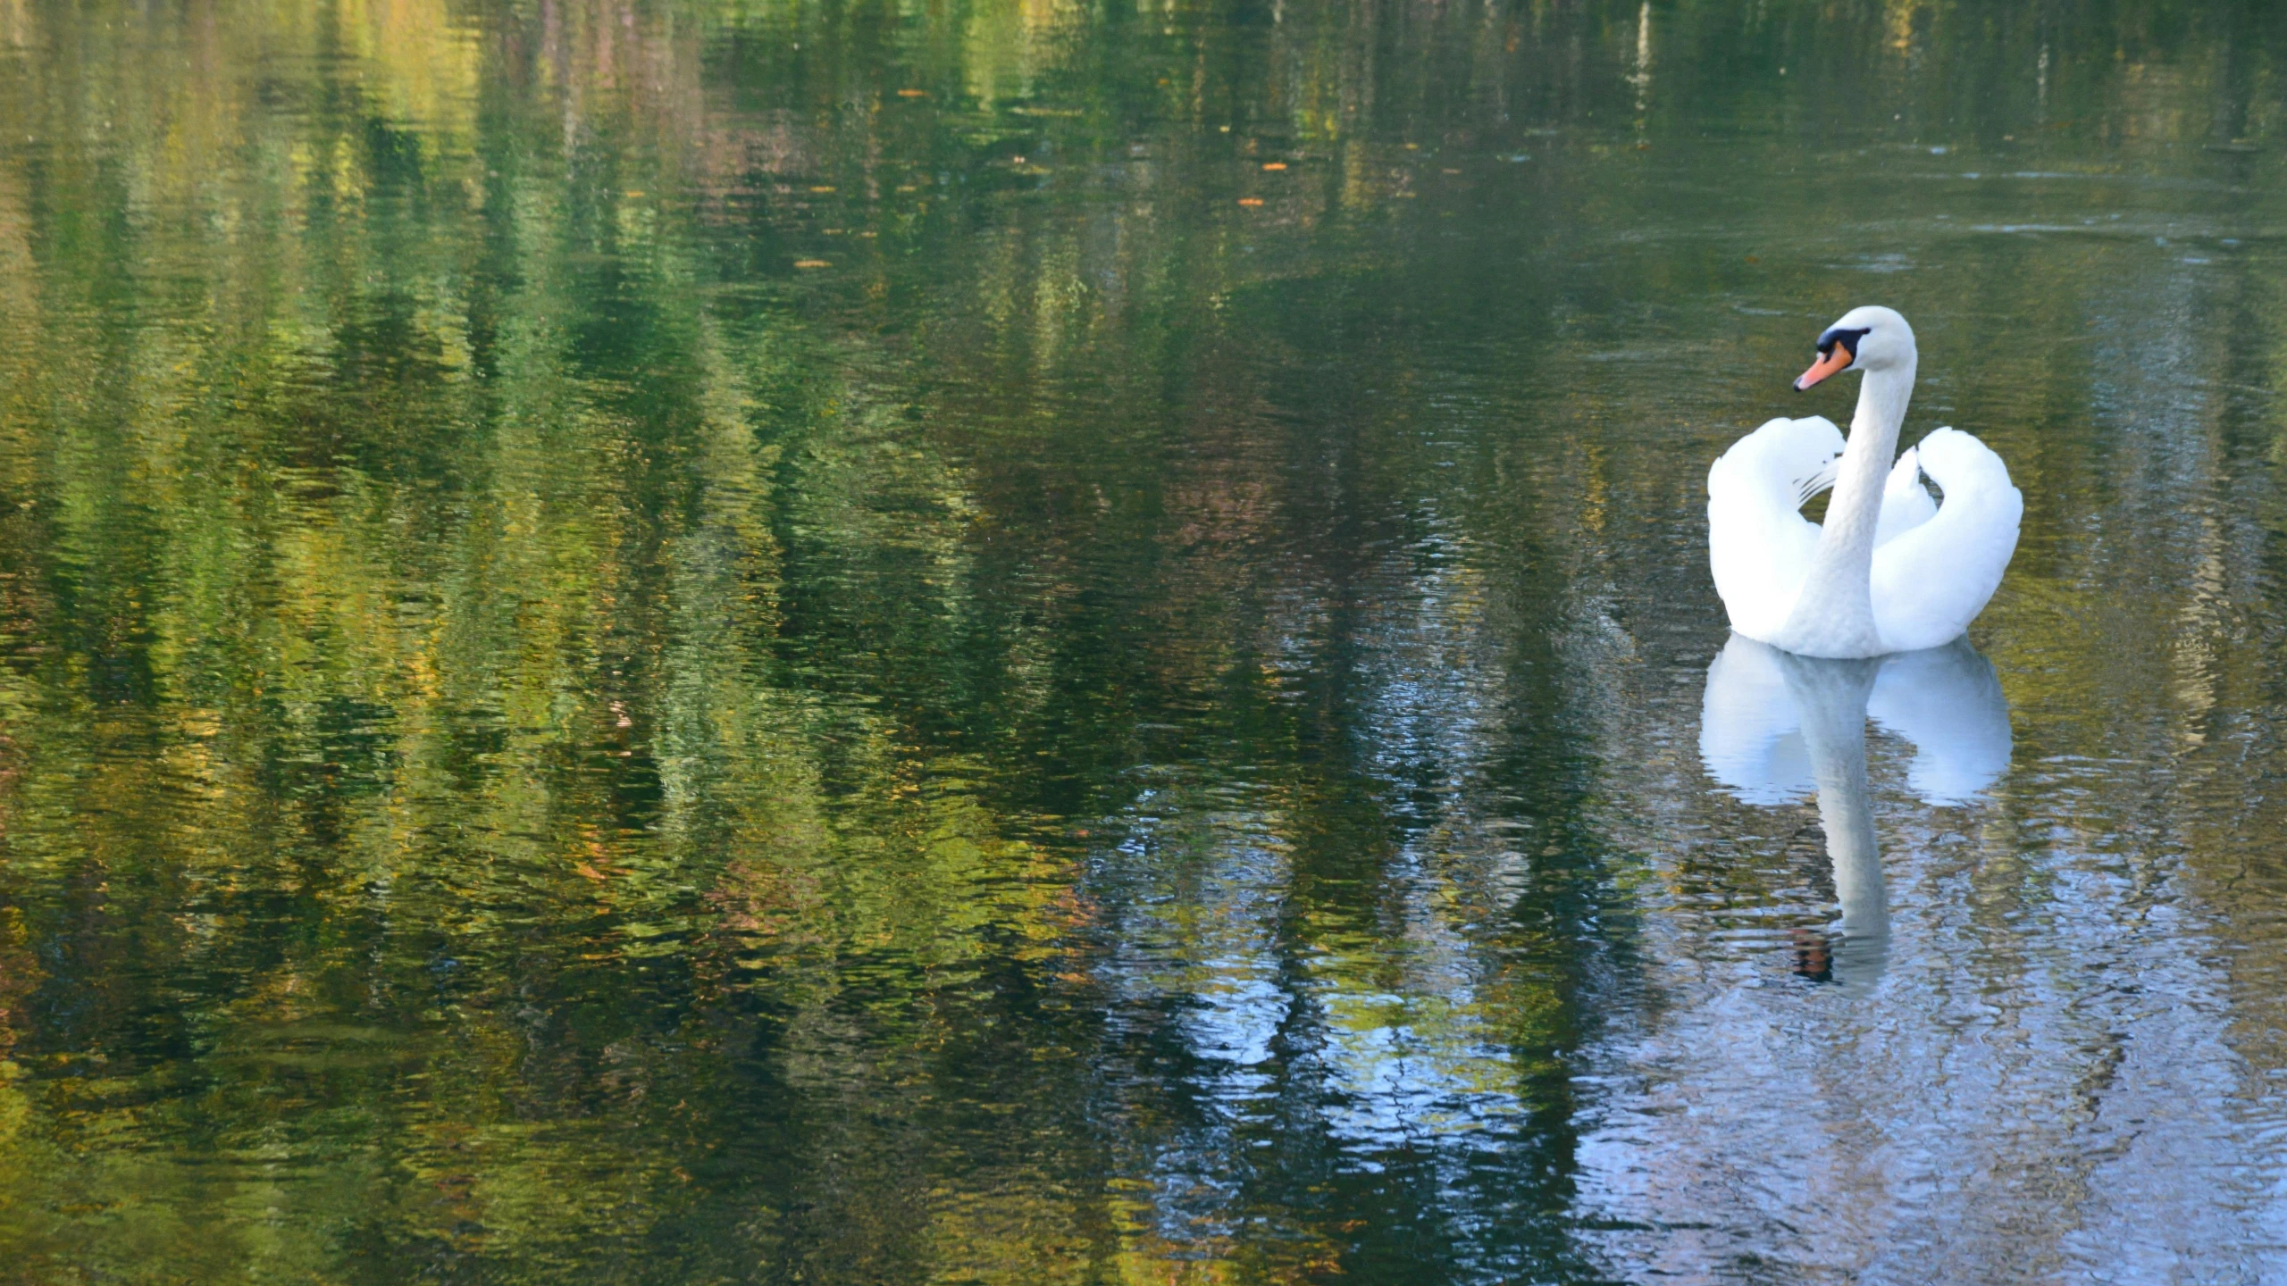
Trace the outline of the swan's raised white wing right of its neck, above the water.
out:
<instances>
[{"instance_id":1,"label":"swan's raised white wing right of its neck, above the water","mask_svg":"<svg viewBox=\"0 0 2287 1286\"><path fill-rule=\"evenodd\" d=\"M2024 515L2008 467L1976 437L1939 428L1914 453L1946 501L1873 551L1873 620L1894 652L1951 643L1976 620L2017 551Z\"/></svg>"}]
</instances>

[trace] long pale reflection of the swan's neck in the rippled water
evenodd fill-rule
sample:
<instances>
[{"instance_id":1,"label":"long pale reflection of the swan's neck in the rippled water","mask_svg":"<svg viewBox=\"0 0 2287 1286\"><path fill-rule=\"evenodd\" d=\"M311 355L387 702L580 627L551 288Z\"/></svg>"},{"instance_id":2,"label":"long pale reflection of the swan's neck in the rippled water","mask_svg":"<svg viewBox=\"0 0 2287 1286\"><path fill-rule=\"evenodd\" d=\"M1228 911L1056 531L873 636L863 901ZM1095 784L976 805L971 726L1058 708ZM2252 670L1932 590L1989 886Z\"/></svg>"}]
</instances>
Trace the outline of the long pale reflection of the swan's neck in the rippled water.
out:
<instances>
[{"instance_id":1,"label":"long pale reflection of the swan's neck in the rippled water","mask_svg":"<svg viewBox=\"0 0 2287 1286\"><path fill-rule=\"evenodd\" d=\"M1818 778L1818 824L1834 863L1834 895L1843 904L1846 954L1880 970L1878 947L1889 936L1882 902L1882 854L1873 840L1873 801L1866 789L1866 698L1882 661L1818 661L1782 652L1788 693L1802 714L1802 741ZM1857 943L1862 950L1848 950Z\"/></svg>"}]
</instances>

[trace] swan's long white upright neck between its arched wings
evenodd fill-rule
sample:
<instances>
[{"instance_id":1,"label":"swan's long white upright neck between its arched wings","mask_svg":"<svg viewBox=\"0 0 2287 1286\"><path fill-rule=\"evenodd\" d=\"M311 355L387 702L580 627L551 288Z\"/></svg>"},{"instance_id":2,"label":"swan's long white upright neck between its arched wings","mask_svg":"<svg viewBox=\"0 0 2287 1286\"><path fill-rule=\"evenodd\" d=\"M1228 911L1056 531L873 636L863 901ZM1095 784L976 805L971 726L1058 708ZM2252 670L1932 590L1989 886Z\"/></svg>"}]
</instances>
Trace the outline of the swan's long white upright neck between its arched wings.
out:
<instances>
[{"instance_id":1,"label":"swan's long white upright neck between its arched wings","mask_svg":"<svg viewBox=\"0 0 2287 1286\"><path fill-rule=\"evenodd\" d=\"M1882 517L1882 483L1898 455L1898 426L1914 396L1914 355L1884 371L1868 371L1859 384L1859 407L1850 416L1850 444L1834 474L1834 499L1818 533L1818 554L1802 579L1795 611L1786 620L1788 652L1811 657L1875 657L1882 638L1873 627L1873 529Z\"/></svg>"}]
</instances>

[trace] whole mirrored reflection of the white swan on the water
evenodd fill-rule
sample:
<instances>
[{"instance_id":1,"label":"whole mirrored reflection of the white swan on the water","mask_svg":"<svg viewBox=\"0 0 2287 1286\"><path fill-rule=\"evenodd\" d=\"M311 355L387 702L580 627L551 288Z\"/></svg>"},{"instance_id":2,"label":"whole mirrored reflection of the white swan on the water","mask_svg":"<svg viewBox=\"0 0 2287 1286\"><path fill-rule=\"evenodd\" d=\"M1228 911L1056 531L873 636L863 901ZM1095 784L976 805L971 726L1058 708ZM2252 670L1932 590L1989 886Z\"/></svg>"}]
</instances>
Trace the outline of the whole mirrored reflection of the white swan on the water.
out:
<instances>
[{"instance_id":1,"label":"whole mirrored reflection of the white swan on the water","mask_svg":"<svg viewBox=\"0 0 2287 1286\"><path fill-rule=\"evenodd\" d=\"M1734 634L1708 666L1699 757L1745 803L1818 794L1841 938L1811 943L1804 973L1848 984L1882 973L1889 911L1866 789L1866 721L1914 746L1905 785L1933 805L1969 803L2008 767L2008 702L1985 657L1955 638L1864 661L1795 657ZM1823 956L1823 959L1818 959Z\"/></svg>"}]
</instances>

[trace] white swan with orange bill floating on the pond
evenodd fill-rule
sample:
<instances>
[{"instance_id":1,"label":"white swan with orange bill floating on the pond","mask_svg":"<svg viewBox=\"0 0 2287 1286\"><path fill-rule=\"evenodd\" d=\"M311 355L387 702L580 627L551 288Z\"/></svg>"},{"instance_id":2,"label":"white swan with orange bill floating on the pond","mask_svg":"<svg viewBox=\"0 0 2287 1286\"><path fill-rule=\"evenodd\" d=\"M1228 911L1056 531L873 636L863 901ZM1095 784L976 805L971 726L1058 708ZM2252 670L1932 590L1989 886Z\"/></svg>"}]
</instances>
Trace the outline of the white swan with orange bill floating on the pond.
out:
<instances>
[{"instance_id":1,"label":"white swan with orange bill floating on the pond","mask_svg":"<svg viewBox=\"0 0 2287 1286\"><path fill-rule=\"evenodd\" d=\"M1951 643L1994 595L2024 497L1983 442L1939 428L1891 465L1914 396L1914 330L1850 309L1818 336L1809 389L1864 371L1850 444L1825 416L1775 419L1708 469L1708 565L1731 629L1804 657L1880 657ZM1839 460L1836 460L1839 458ZM1944 492L1933 503L1928 476ZM1827 485L1827 522L1802 501Z\"/></svg>"}]
</instances>

